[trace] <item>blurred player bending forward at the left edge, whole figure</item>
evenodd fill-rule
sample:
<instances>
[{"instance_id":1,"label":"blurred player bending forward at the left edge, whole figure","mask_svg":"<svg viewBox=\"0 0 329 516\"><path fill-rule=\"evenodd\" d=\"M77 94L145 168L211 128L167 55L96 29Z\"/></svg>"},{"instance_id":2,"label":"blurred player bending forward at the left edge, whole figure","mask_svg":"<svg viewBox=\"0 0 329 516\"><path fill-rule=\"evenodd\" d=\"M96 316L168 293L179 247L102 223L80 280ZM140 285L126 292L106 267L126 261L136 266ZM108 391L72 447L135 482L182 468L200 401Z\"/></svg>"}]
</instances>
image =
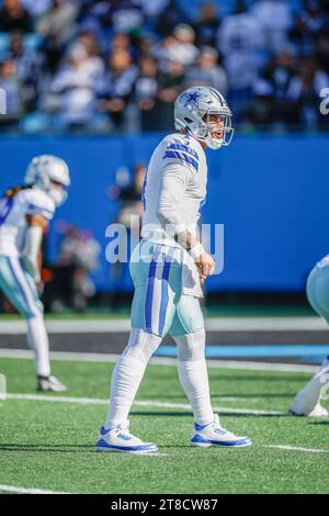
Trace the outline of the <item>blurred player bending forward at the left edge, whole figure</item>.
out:
<instances>
[{"instance_id":1,"label":"blurred player bending forward at the left edge, whole figure","mask_svg":"<svg viewBox=\"0 0 329 516\"><path fill-rule=\"evenodd\" d=\"M66 391L50 372L49 343L36 283L41 280L43 233L56 206L66 200L69 183L63 159L37 156L29 165L25 184L9 189L0 202L0 289L26 319L41 391Z\"/></svg>"}]
</instances>

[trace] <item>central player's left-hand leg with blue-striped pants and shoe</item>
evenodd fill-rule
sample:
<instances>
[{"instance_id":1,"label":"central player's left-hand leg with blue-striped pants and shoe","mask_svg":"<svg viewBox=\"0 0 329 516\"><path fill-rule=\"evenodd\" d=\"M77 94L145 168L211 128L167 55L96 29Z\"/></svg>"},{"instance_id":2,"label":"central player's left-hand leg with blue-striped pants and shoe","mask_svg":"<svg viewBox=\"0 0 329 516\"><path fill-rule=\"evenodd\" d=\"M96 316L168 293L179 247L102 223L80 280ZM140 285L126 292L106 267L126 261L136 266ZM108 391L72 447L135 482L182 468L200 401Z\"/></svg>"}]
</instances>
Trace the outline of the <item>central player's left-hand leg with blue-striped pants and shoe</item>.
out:
<instances>
[{"instance_id":1,"label":"central player's left-hand leg with blue-striped pants and shoe","mask_svg":"<svg viewBox=\"0 0 329 516\"><path fill-rule=\"evenodd\" d=\"M160 246L158 248L160 253ZM146 366L171 324L174 305L168 277L170 262L159 259L131 263L135 283L132 332L111 379L110 406L98 449L102 451L154 451L156 445L141 442L128 431L128 414ZM133 255L134 257L134 255ZM124 431L124 434L123 434Z\"/></svg>"}]
</instances>

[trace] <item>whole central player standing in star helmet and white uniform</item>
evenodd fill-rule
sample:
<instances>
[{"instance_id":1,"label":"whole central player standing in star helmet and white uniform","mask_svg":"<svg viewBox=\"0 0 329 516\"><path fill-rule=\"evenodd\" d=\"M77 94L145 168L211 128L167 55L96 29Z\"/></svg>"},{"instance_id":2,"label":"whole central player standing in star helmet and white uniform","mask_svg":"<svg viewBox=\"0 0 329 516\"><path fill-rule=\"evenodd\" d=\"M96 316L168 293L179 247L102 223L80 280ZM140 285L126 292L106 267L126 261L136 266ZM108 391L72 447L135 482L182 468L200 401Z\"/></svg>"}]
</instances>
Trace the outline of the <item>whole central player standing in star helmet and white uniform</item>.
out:
<instances>
[{"instance_id":1,"label":"whole central player standing in star helmet and white uniform","mask_svg":"<svg viewBox=\"0 0 329 516\"><path fill-rule=\"evenodd\" d=\"M155 149L144 184L143 239L131 257L135 284L132 332L111 381L110 408L101 428L100 451L151 452L157 445L129 433L128 413L151 355L169 333L178 345L179 379L189 397L192 446L249 446L219 425L214 414L205 361L201 282L215 268L197 239L200 207L206 194L204 148L228 145L231 112L213 88L194 87L179 96L174 123L180 133Z\"/></svg>"}]
</instances>

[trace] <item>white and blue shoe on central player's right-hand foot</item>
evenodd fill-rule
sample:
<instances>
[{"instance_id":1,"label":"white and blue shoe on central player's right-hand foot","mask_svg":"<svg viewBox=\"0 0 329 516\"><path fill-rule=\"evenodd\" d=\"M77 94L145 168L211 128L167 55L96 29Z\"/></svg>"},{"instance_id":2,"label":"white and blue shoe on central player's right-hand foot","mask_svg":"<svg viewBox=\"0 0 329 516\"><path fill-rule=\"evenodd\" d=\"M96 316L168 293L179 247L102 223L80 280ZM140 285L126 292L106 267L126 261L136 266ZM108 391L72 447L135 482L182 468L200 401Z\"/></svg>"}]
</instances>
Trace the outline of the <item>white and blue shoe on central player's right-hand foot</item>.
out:
<instances>
[{"instance_id":1,"label":"white and blue shoe on central player's right-hand foot","mask_svg":"<svg viewBox=\"0 0 329 516\"><path fill-rule=\"evenodd\" d=\"M242 447L250 446L252 440L250 437L239 437L223 428L218 414L215 414L214 420L208 425L202 426L194 423L194 431L190 442L200 448L208 448L209 446Z\"/></svg>"}]
</instances>

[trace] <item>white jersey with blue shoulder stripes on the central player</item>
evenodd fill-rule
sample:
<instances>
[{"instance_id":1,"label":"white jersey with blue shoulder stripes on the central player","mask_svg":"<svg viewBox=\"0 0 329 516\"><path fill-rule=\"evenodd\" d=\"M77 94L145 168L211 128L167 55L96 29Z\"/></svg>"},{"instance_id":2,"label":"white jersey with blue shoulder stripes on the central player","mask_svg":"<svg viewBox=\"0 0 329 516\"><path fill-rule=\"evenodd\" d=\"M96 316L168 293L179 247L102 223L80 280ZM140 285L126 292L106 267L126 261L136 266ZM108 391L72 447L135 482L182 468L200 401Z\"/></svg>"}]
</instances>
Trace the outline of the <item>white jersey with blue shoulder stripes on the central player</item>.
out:
<instances>
[{"instance_id":1,"label":"white jersey with blue shoulder stripes on the central player","mask_svg":"<svg viewBox=\"0 0 329 516\"><path fill-rule=\"evenodd\" d=\"M143 238L180 247L158 218L162 205L171 211L178 231L189 229L196 236L206 182L207 165L201 144L188 134L166 136L150 158L144 181Z\"/></svg>"}]
</instances>

